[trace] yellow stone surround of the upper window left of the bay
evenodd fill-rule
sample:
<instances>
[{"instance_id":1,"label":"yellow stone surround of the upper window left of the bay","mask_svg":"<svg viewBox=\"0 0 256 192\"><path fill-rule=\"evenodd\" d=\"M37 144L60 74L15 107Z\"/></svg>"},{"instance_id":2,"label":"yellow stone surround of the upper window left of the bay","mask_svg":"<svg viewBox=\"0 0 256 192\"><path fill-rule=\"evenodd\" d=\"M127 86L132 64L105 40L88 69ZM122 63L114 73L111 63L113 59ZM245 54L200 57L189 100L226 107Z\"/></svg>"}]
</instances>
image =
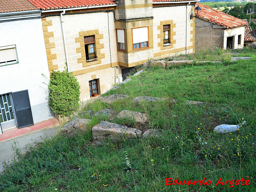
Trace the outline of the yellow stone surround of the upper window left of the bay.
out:
<instances>
[{"instance_id":1,"label":"yellow stone surround of the upper window left of the bay","mask_svg":"<svg viewBox=\"0 0 256 192\"><path fill-rule=\"evenodd\" d=\"M98 60L86 62L85 48L84 48L84 36L91 36L91 35L95 36L96 55L98 57ZM100 49L104 48L104 44L100 44L100 39L102 39L102 38L103 38L103 34L99 34L99 29L94 29L94 30L89 30L89 31L80 31L79 37L75 38L75 42L80 43L80 47L76 48L76 53L81 53L81 58L77 58L77 63L82 63L83 67L100 64L101 59L105 58L105 53L100 52ZM85 69L82 69L82 70L85 70ZM79 71L81 71L81 70L79 70Z\"/></svg>"}]
</instances>

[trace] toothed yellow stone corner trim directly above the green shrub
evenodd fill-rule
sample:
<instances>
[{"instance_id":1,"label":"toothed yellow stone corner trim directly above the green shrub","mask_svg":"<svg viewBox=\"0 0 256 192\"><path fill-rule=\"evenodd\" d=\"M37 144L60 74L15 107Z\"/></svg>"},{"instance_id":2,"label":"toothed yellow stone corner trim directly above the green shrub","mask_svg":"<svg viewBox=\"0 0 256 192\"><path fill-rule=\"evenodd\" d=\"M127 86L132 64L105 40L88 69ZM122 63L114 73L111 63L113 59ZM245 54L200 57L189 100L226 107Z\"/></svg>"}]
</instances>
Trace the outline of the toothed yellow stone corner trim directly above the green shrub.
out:
<instances>
[{"instance_id":1,"label":"toothed yellow stone corner trim directly above the green shrub","mask_svg":"<svg viewBox=\"0 0 256 192\"><path fill-rule=\"evenodd\" d=\"M49 38L53 37L53 31L48 32L48 26L52 26L52 20L46 20L46 18L42 18L42 26L43 26L43 33L44 33L44 44L46 49L46 56L48 61L48 68L50 73L53 70L59 69L58 65L53 65L52 60L57 59L57 54L52 54L51 49L55 48L55 43L50 43Z\"/></svg>"}]
</instances>

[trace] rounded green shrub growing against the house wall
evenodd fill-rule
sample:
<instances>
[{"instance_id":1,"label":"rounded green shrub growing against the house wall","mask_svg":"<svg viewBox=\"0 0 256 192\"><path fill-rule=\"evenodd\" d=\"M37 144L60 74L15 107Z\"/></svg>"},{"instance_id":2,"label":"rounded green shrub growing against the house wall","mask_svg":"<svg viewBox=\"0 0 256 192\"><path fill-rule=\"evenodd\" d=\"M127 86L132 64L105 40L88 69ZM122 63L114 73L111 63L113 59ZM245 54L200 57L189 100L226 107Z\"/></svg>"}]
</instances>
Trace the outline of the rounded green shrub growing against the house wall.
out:
<instances>
[{"instance_id":1,"label":"rounded green shrub growing against the house wall","mask_svg":"<svg viewBox=\"0 0 256 192\"><path fill-rule=\"evenodd\" d=\"M80 85L67 70L52 71L48 88L49 106L54 113L68 116L79 107Z\"/></svg>"}]
</instances>

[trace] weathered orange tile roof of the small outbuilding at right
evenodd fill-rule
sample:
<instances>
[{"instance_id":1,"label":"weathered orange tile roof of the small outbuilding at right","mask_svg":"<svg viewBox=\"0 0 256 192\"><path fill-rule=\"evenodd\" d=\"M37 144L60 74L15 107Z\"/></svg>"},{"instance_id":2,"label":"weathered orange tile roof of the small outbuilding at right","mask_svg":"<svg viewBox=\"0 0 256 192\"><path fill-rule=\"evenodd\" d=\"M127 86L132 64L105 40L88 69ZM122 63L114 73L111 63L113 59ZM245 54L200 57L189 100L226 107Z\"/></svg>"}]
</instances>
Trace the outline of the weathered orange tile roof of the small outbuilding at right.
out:
<instances>
[{"instance_id":1,"label":"weathered orange tile roof of the small outbuilding at right","mask_svg":"<svg viewBox=\"0 0 256 192\"><path fill-rule=\"evenodd\" d=\"M201 3L196 3L199 5L201 12L198 14L198 18L207 20L211 23L223 26L224 28L234 28L241 27L248 24L247 21L237 19L227 13L213 9Z\"/></svg>"}]
</instances>

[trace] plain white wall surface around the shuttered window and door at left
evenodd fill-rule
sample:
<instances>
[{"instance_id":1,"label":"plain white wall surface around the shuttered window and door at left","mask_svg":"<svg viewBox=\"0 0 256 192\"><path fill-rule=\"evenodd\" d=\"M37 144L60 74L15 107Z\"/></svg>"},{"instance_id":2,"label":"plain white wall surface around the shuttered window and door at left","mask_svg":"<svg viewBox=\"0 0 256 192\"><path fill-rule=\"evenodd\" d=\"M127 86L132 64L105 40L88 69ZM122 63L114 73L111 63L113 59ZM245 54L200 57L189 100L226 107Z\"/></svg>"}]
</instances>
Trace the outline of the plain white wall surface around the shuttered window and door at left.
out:
<instances>
[{"instance_id":1,"label":"plain white wall surface around the shuttered window and door at left","mask_svg":"<svg viewBox=\"0 0 256 192\"><path fill-rule=\"evenodd\" d=\"M52 117L47 107L49 69L41 19L0 23L0 46L16 45L19 63L1 66L0 94L27 90L34 123ZM47 82L46 82L47 83Z\"/></svg>"}]
</instances>

